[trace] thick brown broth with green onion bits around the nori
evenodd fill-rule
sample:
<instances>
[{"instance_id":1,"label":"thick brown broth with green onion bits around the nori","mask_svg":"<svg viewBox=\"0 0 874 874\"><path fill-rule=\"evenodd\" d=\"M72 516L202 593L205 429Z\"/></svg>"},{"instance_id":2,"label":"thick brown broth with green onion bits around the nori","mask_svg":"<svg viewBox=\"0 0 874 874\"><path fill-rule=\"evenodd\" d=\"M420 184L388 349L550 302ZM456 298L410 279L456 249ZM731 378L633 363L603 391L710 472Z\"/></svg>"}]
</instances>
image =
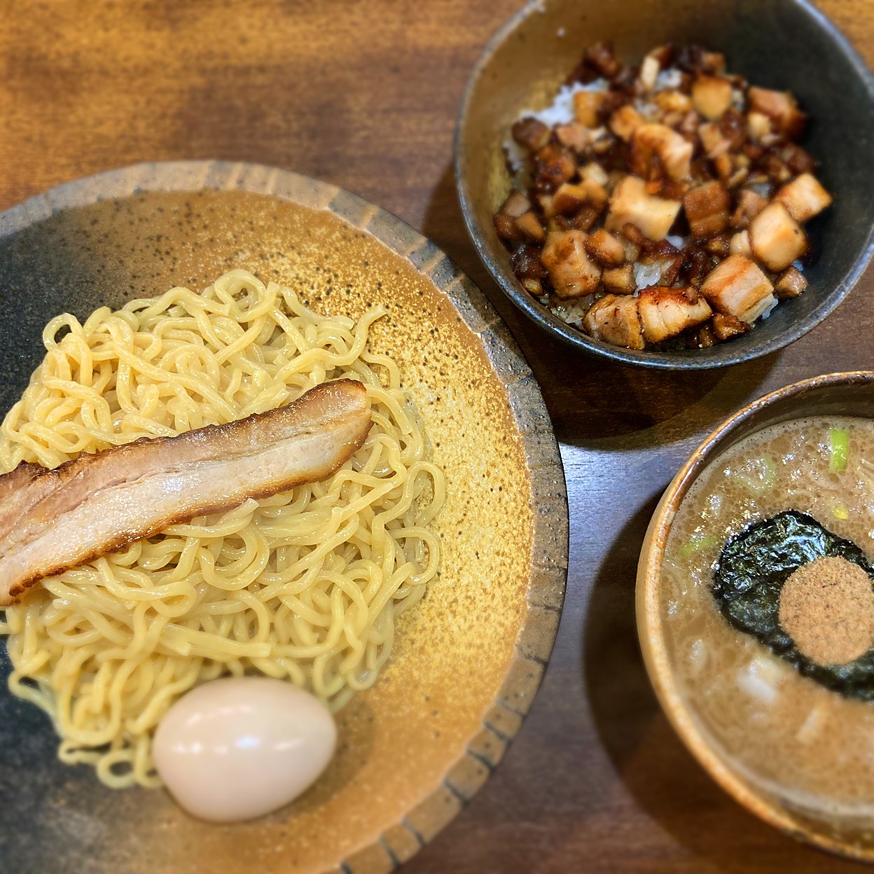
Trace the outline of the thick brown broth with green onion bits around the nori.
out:
<instances>
[{"instance_id":1,"label":"thick brown broth with green onion bits around the nori","mask_svg":"<svg viewBox=\"0 0 874 874\"><path fill-rule=\"evenodd\" d=\"M808 513L874 557L874 423L815 417L767 427L699 476L662 569L669 657L700 727L745 780L811 813L871 817L874 704L801 676L733 628L713 597L726 542L783 510Z\"/></svg>"}]
</instances>

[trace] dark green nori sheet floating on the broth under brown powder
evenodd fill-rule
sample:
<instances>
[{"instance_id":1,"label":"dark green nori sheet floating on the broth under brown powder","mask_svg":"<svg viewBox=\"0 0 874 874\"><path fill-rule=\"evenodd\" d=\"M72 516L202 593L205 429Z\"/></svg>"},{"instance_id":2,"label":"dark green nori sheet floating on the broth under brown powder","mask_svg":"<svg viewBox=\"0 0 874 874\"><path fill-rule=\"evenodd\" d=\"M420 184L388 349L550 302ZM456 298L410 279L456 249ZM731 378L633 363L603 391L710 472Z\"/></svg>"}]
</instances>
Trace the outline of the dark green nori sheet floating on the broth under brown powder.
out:
<instances>
[{"instance_id":1,"label":"dark green nori sheet floating on the broth under brown powder","mask_svg":"<svg viewBox=\"0 0 874 874\"><path fill-rule=\"evenodd\" d=\"M801 565L826 556L846 558L871 579L864 552L795 510L749 525L731 538L715 565L713 597L734 628L755 636L799 673L845 697L874 701L874 649L855 661L823 666L801 655L780 628L780 590Z\"/></svg>"}]
</instances>

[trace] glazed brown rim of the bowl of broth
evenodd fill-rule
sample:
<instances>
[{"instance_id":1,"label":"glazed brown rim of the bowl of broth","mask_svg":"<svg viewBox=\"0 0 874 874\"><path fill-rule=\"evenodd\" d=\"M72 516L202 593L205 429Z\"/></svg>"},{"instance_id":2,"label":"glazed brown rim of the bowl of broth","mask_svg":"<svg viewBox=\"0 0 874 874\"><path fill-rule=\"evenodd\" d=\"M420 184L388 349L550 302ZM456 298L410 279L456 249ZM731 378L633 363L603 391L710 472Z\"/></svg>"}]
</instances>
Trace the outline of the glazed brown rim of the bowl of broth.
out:
<instances>
[{"instance_id":1,"label":"glazed brown rim of the bowl of broth","mask_svg":"<svg viewBox=\"0 0 874 874\"><path fill-rule=\"evenodd\" d=\"M661 586L662 557L676 511L697 475L713 460L714 448L725 437L778 400L799 397L811 389L830 385L872 384L874 384L874 371L844 371L802 379L754 400L711 432L671 480L655 508L643 541L635 591L637 634L649 681L670 724L698 764L704 767L713 780L716 780L735 801L774 828L821 850L865 862L874 862L874 846L864 849L842 843L834 837L819 834L800 822L795 822L786 812L753 792L720 760L718 754L704 739L703 732L698 730L695 720L690 716L690 707L677 689L664 644L662 611L658 596ZM766 427L766 423L763 423L762 427Z\"/></svg>"}]
</instances>

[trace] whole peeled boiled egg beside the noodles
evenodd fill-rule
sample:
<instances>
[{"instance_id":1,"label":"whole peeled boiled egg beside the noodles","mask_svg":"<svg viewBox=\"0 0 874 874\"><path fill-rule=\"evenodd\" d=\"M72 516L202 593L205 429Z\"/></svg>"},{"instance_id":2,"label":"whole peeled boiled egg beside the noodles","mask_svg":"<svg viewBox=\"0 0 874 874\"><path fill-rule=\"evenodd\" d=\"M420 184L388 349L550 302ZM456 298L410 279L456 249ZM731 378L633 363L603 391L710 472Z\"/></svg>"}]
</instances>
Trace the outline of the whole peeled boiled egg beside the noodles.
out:
<instances>
[{"instance_id":1,"label":"whole peeled boiled egg beside the noodles","mask_svg":"<svg viewBox=\"0 0 874 874\"><path fill-rule=\"evenodd\" d=\"M268 676L204 683L170 707L155 733L155 766L190 814L252 819L309 787L336 745L328 709L293 683Z\"/></svg>"}]
</instances>

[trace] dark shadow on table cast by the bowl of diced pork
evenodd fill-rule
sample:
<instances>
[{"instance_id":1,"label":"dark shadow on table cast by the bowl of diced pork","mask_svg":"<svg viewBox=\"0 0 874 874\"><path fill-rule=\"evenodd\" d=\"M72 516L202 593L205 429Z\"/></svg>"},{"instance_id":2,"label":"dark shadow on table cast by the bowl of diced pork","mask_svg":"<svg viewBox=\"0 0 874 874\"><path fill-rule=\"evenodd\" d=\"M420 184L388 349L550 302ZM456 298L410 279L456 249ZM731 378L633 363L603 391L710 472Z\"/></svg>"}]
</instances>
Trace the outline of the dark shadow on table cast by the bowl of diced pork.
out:
<instances>
[{"instance_id":1,"label":"dark shadow on table cast by the bowl of diced pork","mask_svg":"<svg viewBox=\"0 0 874 874\"><path fill-rule=\"evenodd\" d=\"M756 393L780 359L775 352L728 370L649 371L602 361L562 343L529 321L483 266L468 238L451 166L432 192L422 232L482 288L510 326L561 442L654 447L710 430Z\"/></svg>"}]
</instances>

